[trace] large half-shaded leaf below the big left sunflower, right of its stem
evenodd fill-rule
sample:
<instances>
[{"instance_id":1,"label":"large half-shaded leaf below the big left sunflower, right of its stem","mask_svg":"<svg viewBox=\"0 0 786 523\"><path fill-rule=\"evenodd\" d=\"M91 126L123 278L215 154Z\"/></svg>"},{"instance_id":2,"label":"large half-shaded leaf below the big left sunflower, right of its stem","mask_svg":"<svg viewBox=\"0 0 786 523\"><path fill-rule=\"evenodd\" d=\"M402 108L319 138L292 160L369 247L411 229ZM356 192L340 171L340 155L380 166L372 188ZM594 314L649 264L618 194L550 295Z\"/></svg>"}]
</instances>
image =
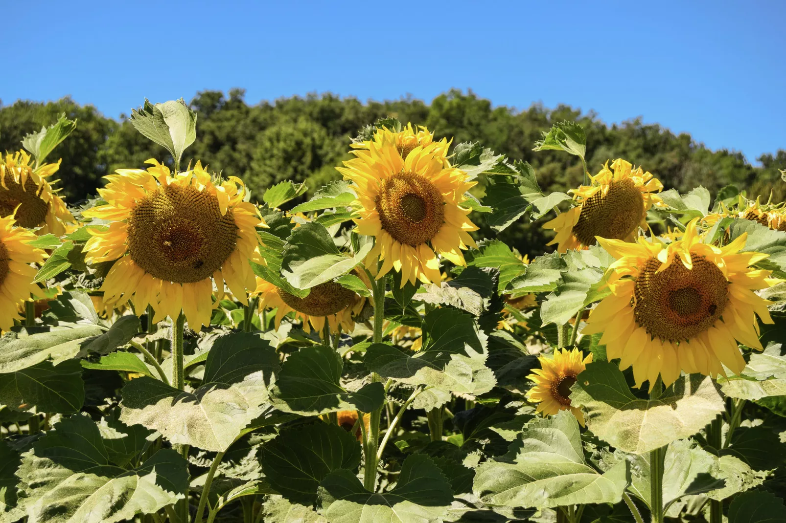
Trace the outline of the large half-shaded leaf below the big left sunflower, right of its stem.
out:
<instances>
[{"instance_id":1,"label":"large half-shaded leaf below the big left sunflower, right of its stem","mask_svg":"<svg viewBox=\"0 0 786 523\"><path fill-rule=\"evenodd\" d=\"M259 334L215 338L202 384L184 392L143 376L123 387L120 419L158 430L172 443L224 452L261 415L278 357Z\"/></svg>"}]
</instances>

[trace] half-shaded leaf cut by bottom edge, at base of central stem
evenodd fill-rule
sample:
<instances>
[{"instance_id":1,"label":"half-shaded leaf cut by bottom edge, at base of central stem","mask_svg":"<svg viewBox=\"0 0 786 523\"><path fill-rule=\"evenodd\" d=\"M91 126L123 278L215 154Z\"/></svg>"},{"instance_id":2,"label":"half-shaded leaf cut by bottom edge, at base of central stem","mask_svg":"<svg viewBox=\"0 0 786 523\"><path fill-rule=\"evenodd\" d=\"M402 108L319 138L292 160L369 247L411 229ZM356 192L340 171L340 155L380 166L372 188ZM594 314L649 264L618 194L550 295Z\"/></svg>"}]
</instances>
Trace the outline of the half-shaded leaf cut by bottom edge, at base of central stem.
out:
<instances>
[{"instance_id":1,"label":"half-shaded leaf cut by bottom edge, at base of central stem","mask_svg":"<svg viewBox=\"0 0 786 523\"><path fill-rule=\"evenodd\" d=\"M351 470L336 470L321 481L325 518L342 523L424 523L442 521L453 494L427 455L410 455L402 464L395 488L374 494Z\"/></svg>"}]
</instances>

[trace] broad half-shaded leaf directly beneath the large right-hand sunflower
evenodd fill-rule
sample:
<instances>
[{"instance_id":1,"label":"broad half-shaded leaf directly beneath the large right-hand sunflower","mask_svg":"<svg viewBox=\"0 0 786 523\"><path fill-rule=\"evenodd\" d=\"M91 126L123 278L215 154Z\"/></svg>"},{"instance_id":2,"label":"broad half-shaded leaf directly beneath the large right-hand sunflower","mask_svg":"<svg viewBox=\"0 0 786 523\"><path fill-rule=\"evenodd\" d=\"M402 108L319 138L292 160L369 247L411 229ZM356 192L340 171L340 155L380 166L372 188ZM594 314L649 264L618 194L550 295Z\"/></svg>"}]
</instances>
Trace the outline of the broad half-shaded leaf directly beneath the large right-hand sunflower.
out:
<instances>
[{"instance_id":1,"label":"broad half-shaded leaf directly beneath the large right-hand sunflower","mask_svg":"<svg viewBox=\"0 0 786 523\"><path fill-rule=\"evenodd\" d=\"M571 390L572 405L584 411L589 430L634 454L690 437L725 409L707 376L682 376L657 400L645 400L634 397L619 368L604 361L588 364Z\"/></svg>"}]
</instances>

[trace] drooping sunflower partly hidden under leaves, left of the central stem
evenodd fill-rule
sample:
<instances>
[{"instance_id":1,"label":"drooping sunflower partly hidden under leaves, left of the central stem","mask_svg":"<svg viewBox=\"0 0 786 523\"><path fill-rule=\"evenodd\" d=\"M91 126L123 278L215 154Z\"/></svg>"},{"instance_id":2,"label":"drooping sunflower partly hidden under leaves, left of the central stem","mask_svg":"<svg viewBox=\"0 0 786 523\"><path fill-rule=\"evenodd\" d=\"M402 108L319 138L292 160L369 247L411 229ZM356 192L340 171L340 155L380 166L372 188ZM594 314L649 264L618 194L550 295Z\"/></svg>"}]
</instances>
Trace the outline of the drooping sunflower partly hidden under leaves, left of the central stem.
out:
<instances>
[{"instance_id":1,"label":"drooping sunflower partly hidden under leaves, left of the central stem","mask_svg":"<svg viewBox=\"0 0 786 523\"><path fill-rule=\"evenodd\" d=\"M369 283L364 273L355 274ZM325 318L332 332L339 332L339 328L344 332L354 331L353 316L359 314L365 305L365 298L361 295L332 281L311 287L305 298L298 298L258 276L253 295L259 296L259 310L277 309L276 328L281 325L284 316L294 312L295 317L303 321L303 326L311 324L320 335L325 328Z\"/></svg>"}]
</instances>

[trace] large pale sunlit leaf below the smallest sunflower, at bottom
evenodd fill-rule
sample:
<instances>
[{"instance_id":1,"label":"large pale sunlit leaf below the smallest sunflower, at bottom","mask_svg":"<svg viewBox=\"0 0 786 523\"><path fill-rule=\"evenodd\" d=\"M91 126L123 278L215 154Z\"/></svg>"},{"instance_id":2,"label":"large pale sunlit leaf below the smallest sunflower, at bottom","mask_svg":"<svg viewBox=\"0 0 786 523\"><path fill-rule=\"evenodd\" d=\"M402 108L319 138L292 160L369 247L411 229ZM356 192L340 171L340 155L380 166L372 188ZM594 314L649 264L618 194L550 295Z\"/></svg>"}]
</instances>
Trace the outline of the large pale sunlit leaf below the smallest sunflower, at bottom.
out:
<instances>
[{"instance_id":1,"label":"large pale sunlit leaf below the smallest sunflower, at bottom","mask_svg":"<svg viewBox=\"0 0 786 523\"><path fill-rule=\"evenodd\" d=\"M587 465L578 422L569 411L527 423L500 460L481 463L474 492L501 507L618 503L630 482L622 461L604 474Z\"/></svg>"}]
</instances>

